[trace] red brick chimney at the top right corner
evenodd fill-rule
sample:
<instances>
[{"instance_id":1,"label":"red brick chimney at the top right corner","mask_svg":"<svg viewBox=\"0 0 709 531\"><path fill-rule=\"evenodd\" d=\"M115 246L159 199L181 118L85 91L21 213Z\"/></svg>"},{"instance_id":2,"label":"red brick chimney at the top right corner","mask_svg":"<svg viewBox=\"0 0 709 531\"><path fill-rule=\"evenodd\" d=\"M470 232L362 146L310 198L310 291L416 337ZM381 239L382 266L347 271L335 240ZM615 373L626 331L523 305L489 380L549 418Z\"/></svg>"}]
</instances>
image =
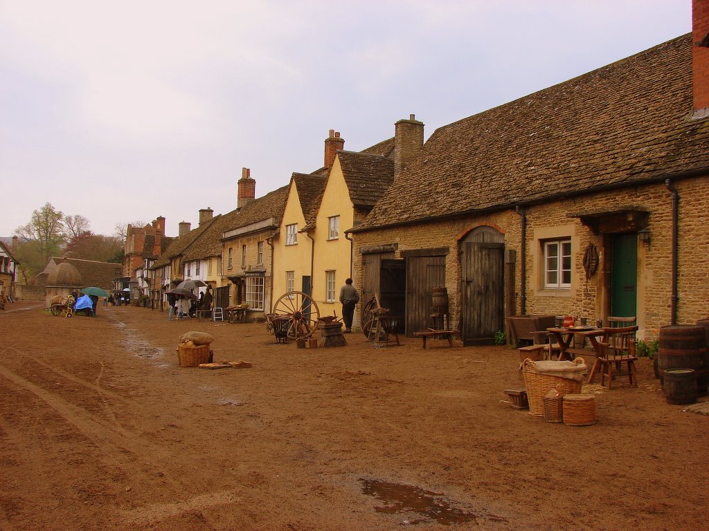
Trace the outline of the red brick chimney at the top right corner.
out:
<instances>
[{"instance_id":1,"label":"red brick chimney at the top right corner","mask_svg":"<svg viewBox=\"0 0 709 531\"><path fill-rule=\"evenodd\" d=\"M709 116L709 0L692 2L694 118Z\"/></svg>"}]
</instances>

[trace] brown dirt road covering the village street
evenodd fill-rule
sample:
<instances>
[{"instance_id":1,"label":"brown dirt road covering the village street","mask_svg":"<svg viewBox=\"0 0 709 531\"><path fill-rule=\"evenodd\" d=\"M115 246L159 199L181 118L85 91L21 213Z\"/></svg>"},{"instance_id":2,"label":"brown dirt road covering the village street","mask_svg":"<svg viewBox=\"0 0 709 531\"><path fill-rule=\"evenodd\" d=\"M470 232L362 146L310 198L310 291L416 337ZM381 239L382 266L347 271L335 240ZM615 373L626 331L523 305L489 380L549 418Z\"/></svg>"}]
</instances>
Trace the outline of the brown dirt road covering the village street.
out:
<instances>
[{"instance_id":1,"label":"brown dirt road covering the village street","mask_svg":"<svg viewBox=\"0 0 709 531\"><path fill-rule=\"evenodd\" d=\"M215 360L179 367L180 334ZM709 417L598 386L598 421L504 402L518 353L276 344L260 324L0 312L0 530L708 529Z\"/></svg>"}]
</instances>

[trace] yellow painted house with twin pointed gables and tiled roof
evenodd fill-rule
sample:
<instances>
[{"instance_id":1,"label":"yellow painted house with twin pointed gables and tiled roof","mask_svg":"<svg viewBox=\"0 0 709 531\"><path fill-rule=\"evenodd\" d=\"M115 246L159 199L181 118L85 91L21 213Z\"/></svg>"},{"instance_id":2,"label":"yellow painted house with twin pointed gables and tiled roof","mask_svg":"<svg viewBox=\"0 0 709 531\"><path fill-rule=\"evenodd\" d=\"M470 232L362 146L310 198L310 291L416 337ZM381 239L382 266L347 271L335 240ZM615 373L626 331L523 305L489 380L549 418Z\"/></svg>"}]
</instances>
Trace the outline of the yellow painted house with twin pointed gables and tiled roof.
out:
<instances>
[{"instance_id":1,"label":"yellow painted house with twin pointed gables and tiled roof","mask_svg":"<svg viewBox=\"0 0 709 531\"><path fill-rule=\"evenodd\" d=\"M294 173L279 231L274 235L274 300L290 291L311 295L320 315L342 315L340 287L352 276L347 231L361 222L393 181L393 139L363 152L325 140L325 166ZM357 321L355 315L355 324Z\"/></svg>"}]
</instances>

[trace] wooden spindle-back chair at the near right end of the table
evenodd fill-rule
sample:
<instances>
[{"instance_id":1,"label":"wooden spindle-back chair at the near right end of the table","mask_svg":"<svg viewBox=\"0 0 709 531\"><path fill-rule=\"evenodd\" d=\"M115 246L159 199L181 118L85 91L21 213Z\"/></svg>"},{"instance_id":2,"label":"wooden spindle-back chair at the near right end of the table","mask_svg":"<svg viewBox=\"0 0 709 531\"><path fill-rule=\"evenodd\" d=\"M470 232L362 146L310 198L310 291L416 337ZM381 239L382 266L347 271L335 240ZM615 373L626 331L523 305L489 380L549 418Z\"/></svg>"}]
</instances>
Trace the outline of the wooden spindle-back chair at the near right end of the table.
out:
<instances>
[{"instance_id":1,"label":"wooden spindle-back chair at the near right end of the table","mask_svg":"<svg viewBox=\"0 0 709 531\"><path fill-rule=\"evenodd\" d=\"M608 318L610 321L611 318ZM635 326L610 326L603 329L603 341L599 341L601 351L598 355L601 372L601 385L608 377L608 390L613 387L613 378L627 376L628 382L637 387L637 372L635 370ZM625 369L623 365L626 365ZM595 377L595 376L594 376ZM591 383L591 382L589 382Z\"/></svg>"}]
</instances>

